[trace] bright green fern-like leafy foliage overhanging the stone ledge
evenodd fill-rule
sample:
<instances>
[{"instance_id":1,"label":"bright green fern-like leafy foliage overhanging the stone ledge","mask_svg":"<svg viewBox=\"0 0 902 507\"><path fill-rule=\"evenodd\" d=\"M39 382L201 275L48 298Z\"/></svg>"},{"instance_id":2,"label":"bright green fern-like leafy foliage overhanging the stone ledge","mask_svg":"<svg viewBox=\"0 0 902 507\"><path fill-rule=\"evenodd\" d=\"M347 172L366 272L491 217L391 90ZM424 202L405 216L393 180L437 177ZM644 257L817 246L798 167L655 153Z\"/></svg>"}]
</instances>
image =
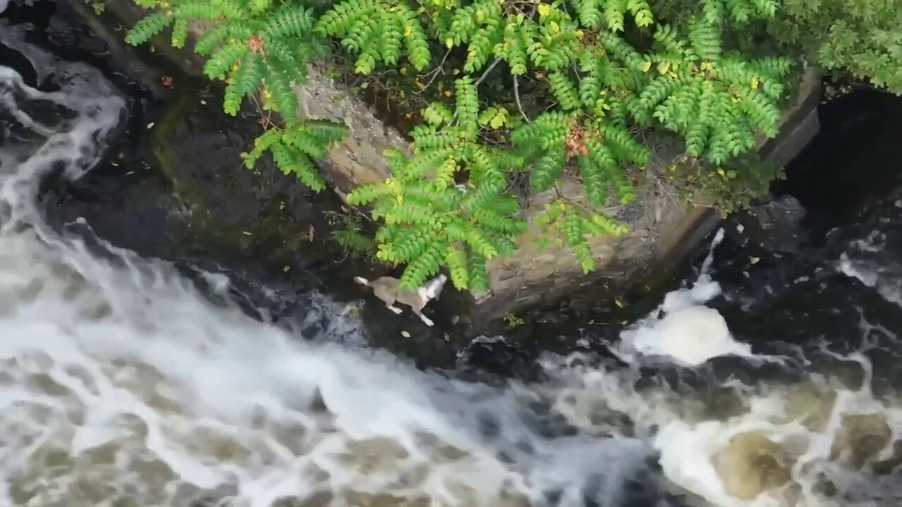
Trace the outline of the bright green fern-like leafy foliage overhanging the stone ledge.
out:
<instances>
[{"instance_id":1,"label":"bright green fern-like leafy foliage overhanging the stone ledge","mask_svg":"<svg viewBox=\"0 0 902 507\"><path fill-rule=\"evenodd\" d=\"M296 114L311 65L340 56L364 76L453 77L407 133L412 154L386 153L391 178L348 197L371 207L378 257L406 265L407 288L443 266L458 289L488 288L486 262L526 229L513 181L580 182L588 206L560 197L533 220L594 269L588 240L625 232L603 210L637 198L651 138L685 152L692 184L720 204L755 197L778 170L754 148L778 133L806 60L902 89L902 10L878 0L135 1L152 13L132 44L168 30L180 48L189 23L210 24L194 51L226 82L226 112L262 97L283 120L246 164L269 152L312 189L326 187L316 163L345 127Z\"/></svg>"}]
</instances>

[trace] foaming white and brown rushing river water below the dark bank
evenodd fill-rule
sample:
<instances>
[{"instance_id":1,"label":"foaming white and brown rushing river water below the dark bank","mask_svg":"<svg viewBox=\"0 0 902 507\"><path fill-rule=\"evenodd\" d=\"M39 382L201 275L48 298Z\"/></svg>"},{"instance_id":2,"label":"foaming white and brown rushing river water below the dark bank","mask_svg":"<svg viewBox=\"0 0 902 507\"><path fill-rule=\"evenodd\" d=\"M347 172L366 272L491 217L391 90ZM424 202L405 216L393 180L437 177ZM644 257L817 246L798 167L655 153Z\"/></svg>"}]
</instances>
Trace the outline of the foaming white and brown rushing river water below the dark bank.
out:
<instances>
[{"instance_id":1,"label":"foaming white and brown rushing river water below the dark bank","mask_svg":"<svg viewBox=\"0 0 902 507\"><path fill-rule=\"evenodd\" d=\"M42 93L0 68L0 504L902 503L898 374L873 360L902 354L863 314L855 346L756 353L703 306L705 266L612 355L547 355L529 384L301 339L44 224L41 177L89 171L124 120L96 71L63 74ZM829 269L899 303L881 234Z\"/></svg>"}]
</instances>

